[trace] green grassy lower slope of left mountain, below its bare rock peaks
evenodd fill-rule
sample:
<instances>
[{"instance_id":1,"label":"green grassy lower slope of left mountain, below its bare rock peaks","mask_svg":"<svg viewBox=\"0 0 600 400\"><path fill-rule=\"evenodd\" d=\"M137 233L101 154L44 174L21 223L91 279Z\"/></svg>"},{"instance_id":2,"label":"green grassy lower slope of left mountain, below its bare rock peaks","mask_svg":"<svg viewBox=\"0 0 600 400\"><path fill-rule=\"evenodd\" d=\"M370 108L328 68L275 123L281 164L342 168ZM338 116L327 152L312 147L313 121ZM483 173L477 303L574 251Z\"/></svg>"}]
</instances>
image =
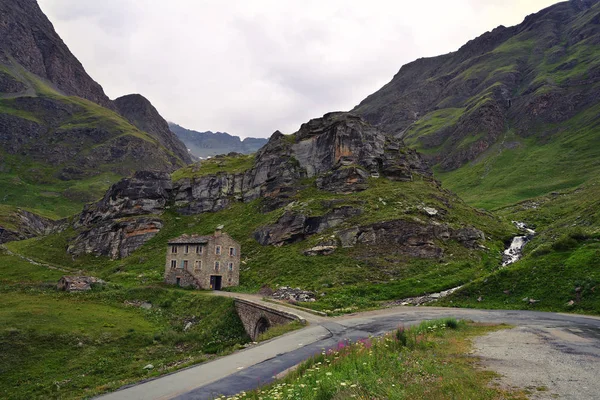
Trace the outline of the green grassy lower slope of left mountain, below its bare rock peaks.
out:
<instances>
[{"instance_id":1,"label":"green grassy lower slope of left mountain, below its bare rock peaks","mask_svg":"<svg viewBox=\"0 0 600 400\"><path fill-rule=\"evenodd\" d=\"M32 123L45 132L31 141L28 128L23 128L18 152L10 150L10 142L0 146L0 204L52 218L66 217L133 171L165 169L171 163L183 166L156 139L116 112L89 100L64 96L18 65L2 68L29 90L0 98L0 114ZM52 148L70 156L50 161ZM137 149L148 154L136 156Z\"/></svg>"}]
</instances>

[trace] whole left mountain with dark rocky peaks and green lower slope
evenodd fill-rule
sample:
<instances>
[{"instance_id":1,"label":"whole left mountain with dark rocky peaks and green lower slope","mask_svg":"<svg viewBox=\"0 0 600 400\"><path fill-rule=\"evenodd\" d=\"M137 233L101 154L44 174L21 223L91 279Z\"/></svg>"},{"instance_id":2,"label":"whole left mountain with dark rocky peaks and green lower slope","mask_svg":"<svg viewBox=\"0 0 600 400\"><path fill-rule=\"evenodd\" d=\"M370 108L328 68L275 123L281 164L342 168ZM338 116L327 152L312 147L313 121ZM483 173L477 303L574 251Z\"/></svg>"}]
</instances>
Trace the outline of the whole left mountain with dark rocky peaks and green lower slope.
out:
<instances>
[{"instance_id":1,"label":"whole left mountain with dark rocky peaks and green lower slope","mask_svg":"<svg viewBox=\"0 0 600 400\"><path fill-rule=\"evenodd\" d=\"M191 162L146 99L104 94L34 0L0 13L0 203L65 217L136 170Z\"/></svg>"}]
</instances>

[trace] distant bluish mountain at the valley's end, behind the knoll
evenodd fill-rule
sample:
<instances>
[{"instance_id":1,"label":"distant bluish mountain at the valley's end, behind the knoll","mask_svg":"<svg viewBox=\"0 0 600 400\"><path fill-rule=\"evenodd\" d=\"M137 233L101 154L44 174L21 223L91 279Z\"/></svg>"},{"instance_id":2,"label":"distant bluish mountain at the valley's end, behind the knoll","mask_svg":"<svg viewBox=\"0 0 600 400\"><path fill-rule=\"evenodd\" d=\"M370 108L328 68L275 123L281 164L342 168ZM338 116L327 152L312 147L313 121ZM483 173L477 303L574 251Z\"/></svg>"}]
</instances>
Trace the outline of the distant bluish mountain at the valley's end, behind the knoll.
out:
<instances>
[{"instance_id":1,"label":"distant bluish mountain at the valley's end, behind the knoll","mask_svg":"<svg viewBox=\"0 0 600 400\"><path fill-rule=\"evenodd\" d=\"M214 157L218 154L228 154L231 152L242 154L256 153L267 143L267 139L245 138L244 140L240 140L239 137L224 132L197 132L185 129L172 122L169 123L169 127L185 143L192 154L201 158Z\"/></svg>"}]
</instances>

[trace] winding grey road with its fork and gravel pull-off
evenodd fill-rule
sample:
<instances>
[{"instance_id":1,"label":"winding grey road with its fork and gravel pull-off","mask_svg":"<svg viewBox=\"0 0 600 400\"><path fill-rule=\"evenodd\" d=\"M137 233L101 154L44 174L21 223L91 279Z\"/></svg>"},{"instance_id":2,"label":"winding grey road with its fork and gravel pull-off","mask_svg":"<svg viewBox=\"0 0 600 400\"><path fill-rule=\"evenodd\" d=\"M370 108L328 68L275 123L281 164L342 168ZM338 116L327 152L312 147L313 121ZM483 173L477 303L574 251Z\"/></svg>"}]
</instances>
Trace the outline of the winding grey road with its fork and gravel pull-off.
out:
<instances>
[{"instance_id":1,"label":"winding grey road with its fork and gravel pull-off","mask_svg":"<svg viewBox=\"0 0 600 400\"><path fill-rule=\"evenodd\" d=\"M319 317L263 302L257 296L220 293L307 320L306 328L170 375L99 397L102 400L214 399L269 383L322 349L340 341L378 336L400 325L442 317L509 323L515 329L476 341L477 355L505 375L509 386L538 388L534 398L600 398L600 318L535 311L395 307L336 318ZM568 368L566 366L568 365ZM541 390L540 390L541 388ZM554 396L554 397L553 397Z\"/></svg>"}]
</instances>

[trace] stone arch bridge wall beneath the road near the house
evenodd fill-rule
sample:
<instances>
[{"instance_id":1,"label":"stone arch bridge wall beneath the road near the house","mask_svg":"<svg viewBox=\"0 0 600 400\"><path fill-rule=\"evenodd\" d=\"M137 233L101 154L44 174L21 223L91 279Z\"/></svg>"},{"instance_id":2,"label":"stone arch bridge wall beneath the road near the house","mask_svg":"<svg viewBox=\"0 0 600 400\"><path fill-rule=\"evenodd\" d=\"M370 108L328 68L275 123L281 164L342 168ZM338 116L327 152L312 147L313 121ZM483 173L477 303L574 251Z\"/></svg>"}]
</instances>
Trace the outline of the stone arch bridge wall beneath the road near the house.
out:
<instances>
[{"instance_id":1,"label":"stone arch bridge wall beneath the road near the house","mask_svg":"<svg viewBox=\"0 0 600 400\"><path fill-rule=\"evenodd\" d=\"M235 310L252 340L256 340L261 333L272 326L285 325L293 321L306 323L297 315L247 300L235 299Z\"/></svg>"}]
</instances>

